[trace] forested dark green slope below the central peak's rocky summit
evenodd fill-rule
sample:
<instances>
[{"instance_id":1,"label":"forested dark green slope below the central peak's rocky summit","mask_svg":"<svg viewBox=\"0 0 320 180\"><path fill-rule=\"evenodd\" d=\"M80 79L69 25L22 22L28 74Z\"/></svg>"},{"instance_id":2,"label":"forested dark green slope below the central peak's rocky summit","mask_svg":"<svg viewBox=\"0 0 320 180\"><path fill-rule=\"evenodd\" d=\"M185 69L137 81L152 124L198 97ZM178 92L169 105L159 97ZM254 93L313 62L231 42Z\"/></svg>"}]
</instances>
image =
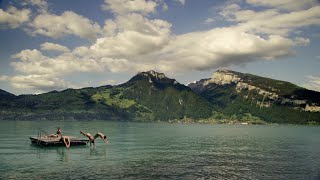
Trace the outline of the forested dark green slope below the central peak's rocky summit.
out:
<instances>
[{"instance_id":1,"label":"forested dark green slope below the central peak's rocky summit","mask_svg":"<svg viewBox=\"0 0 320 180\"><path fill-rule=\"evenodd\" d=\"M138 80L124 92L124 97L148 107L156 119L206 118L211 115L210 104L185 87L157 87Z\"/></svg>"}]
</instances>

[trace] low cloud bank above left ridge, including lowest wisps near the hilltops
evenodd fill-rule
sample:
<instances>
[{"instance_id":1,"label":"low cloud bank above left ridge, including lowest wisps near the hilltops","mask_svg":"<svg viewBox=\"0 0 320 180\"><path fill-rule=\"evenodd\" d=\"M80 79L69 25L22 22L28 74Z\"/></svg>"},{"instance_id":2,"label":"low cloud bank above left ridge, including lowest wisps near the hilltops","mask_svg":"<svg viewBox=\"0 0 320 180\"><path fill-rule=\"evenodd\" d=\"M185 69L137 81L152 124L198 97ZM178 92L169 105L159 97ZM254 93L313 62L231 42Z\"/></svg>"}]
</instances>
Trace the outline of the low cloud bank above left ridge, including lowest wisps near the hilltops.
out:
<instances>
[{"instance_id":1,"label":"low cloud bank above left ridge, including lowest wisps near the hilltops","mask_svg":"<svg viewBox=\"0 0 320 180\"><path fill-rule=\"evenodd\" d=\"M18 75L0 76L1 81L8 81L17 89L46 92L78 86L66 82L63 78L74 72L121 72L129 71L131 63L125 59L86 59L72 53L63 53L56 57L44 56L39 50L26 49L12 56L18 59L12 62Z\"/></svg>"}]
</instances>

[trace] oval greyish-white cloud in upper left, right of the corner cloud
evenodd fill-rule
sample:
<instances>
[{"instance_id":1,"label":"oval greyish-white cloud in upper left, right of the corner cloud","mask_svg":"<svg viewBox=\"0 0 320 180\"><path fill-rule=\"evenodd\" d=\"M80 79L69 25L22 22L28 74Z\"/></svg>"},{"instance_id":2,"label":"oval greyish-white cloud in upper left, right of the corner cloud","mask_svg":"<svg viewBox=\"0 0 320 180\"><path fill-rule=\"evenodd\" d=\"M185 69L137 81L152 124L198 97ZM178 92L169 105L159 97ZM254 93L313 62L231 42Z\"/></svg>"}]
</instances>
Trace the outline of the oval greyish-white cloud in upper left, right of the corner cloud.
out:
<instances>
[{"instance_id":1,"label":"oval greyish-white cloud in upper left, right of the corner cloud","mask_svg":"<svg viewBox=\"0 0 320 180\"><path fill-rule=\"evenodd\" d=\"M35 17L30 25L33 28L32 34L40 34L52 38L76 35L94 40L101 33L98 23L92 22L88 18L72 11L65 11L61 16L40 14Z\"/></svg>"}]
</instances>

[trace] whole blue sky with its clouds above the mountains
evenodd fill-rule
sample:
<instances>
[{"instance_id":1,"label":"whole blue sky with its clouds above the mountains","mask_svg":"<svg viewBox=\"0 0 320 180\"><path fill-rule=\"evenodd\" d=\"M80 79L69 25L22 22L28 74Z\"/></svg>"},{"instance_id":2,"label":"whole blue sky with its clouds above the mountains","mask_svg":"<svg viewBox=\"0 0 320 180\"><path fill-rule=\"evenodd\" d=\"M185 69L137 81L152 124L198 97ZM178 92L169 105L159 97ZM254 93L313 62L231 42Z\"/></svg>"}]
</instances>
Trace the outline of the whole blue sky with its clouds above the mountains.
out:
<instances>
[{"instance_id":1,"label":"whole blue sky with its clouds above the mountains","mask_svg":"<svg viewBox=\"0 0 320 180\"><path fill-rule=\"evenodd\" d=\"M116 85L221 68L320 91L319 0L0 0L0 89Z\"/></svg>"}]
</instances>

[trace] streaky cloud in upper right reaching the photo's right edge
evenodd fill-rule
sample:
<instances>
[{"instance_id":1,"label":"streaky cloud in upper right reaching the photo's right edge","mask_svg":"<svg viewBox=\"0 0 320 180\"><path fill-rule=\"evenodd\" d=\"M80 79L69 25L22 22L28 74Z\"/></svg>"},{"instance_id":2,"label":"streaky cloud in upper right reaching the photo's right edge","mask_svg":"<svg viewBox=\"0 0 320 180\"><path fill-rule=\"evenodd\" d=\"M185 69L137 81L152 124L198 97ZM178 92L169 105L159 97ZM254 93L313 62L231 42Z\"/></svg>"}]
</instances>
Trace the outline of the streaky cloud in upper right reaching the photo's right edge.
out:
<instances>
[{"instance_id":1,"label":"streaky cloud in upper right reaching the photo's right edge","mask_svg":"<svg viewBox=\"0 0 320 180\"><path fill-rule=\"evenodd\" d=\"M237 26L243 31L253 33L288 35L297 28L320 25L320 6L282 13L277 9L241 10L239 5L232 4L224 8L220 14L227 20L238 23Z\"/></svg>"}]
</instances>

